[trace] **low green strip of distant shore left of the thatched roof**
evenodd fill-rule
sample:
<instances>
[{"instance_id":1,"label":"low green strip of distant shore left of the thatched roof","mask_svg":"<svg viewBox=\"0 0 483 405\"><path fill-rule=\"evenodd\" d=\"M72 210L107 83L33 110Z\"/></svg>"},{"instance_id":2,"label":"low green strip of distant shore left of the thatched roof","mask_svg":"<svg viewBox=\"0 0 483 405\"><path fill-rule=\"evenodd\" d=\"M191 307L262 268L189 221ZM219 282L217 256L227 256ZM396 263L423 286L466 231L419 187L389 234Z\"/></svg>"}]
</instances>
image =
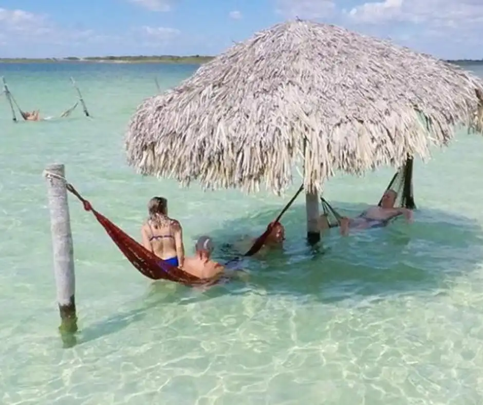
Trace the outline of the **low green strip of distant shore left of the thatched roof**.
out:
<instances>
[{"instance_id":1,"label":"low green strip of distant shore left of the thatched roof","mask_svg":"<svg viewBox=\"0 0 483 405\"><path fill-rule=\"evenodd\" d=\"M97 62L97 63L186 63L202 64L213 59L212 56L96 56L87 58L0 58L0 63L62 63L62 62Z\"/></svg>"}]
</instances>

